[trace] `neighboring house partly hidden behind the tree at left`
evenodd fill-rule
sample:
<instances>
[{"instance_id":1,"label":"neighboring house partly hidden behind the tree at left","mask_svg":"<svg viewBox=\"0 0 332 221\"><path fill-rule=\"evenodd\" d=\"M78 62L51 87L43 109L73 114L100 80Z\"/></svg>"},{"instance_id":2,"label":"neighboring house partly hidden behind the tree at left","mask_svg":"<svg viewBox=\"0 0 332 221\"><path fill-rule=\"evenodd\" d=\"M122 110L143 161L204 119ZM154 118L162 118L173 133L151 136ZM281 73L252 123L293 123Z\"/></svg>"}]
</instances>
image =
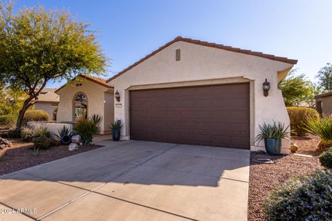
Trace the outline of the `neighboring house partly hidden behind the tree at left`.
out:
<instances>
[{"instance_id":1,"label":"neighboring house partly hidden behind the tree at left","mask_svg":"<svg viewBox=\"0 0 332 221\"><path fill-rule=\"evenodd\" d=\"M56 88L44 88L38 95L38 102L35 104L35 110L42 110L48 113L50 119L53 119L53 112L59 104L59 95L55 93Z\"/></svg>"}]
</instances>

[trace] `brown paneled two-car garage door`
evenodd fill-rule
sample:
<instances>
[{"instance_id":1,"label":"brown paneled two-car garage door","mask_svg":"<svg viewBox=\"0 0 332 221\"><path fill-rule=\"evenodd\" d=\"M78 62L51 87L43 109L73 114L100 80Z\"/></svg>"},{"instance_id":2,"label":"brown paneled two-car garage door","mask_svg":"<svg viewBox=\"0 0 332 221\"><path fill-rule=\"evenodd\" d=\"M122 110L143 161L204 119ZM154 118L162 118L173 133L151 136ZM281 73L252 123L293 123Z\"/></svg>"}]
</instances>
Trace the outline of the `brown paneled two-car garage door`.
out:
<instances>
[{"instance_id":1,"label":"brown paneled two-car garage door","mask_svg":"<svg viewBox=\"0 0 332 221\"><path fill-rule=\"evenodd\" d=\"M249 148L249 84L132 90L130 136Z\"/></svg>"}]
</instances>

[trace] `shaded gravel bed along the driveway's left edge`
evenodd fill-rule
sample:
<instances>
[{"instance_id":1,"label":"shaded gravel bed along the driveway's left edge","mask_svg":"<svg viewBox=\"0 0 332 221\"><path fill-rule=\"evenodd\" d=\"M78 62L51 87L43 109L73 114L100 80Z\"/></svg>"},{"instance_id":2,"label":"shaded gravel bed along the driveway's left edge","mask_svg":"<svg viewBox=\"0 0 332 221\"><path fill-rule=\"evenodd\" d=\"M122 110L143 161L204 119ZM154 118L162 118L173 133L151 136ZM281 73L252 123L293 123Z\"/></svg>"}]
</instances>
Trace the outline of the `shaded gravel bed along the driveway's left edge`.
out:
<instances>
[{"instance_id":1,"label":"shaded gravel bed along the driveway's left edge","mask_svg":"<svg viewBox=\"0 0 332 221\"><path fill-rule=\"evenodd\" d=\"M34 155L33 143L21 142L19 139L10 139L10 141L12 146L0 149L0 175L101 147L91 144L90 146L79 146L75 151L68 151L68 145L52 146L40 151L39 155Z\"/></svg>"}]
</instances>

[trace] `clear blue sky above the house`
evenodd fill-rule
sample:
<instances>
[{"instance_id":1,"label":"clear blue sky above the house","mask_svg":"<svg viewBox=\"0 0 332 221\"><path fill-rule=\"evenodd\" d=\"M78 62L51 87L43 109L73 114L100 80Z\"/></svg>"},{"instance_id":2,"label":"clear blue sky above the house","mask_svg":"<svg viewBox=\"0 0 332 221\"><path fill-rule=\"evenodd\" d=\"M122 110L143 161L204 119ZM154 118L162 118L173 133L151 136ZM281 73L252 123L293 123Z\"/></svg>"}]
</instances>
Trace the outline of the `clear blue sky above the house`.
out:
<instances>
[{"instance_id":1,"label":"clear blue sky above the house","mask_svg":"<svg viewBox=\"0 0 332 221\"><path fill-rule=\"evenodd\" d=\"M112 59L107 77L178 35L298 59L299 73L312 81L332 62L331 0L17 1L17 8L66 8L91 23Z\"/></svg>"}]
</instances>

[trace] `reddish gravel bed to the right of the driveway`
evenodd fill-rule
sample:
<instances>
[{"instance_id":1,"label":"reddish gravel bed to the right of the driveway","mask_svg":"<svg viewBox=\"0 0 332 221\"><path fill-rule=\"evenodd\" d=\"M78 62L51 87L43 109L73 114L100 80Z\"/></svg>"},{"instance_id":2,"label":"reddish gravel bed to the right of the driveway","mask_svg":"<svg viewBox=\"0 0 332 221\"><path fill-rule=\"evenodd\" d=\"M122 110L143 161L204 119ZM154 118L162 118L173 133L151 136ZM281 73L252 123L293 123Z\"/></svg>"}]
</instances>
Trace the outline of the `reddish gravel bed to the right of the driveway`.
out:
<instances>
[{"instance_id":1,"label":"reddish gravel bed to the right of the driveway","mask_svg":"<svg viewBox=\"0 0 332 221\"><path fill-rule=\"evenodd\" d=\"M264 220L264 199L268 191L274 189L278 184L288 180L289 177L306 175L319 169L320 162L317 155L318 137L308 135L305 137L293 137L293 143L299 146L297 153L311 155L304 157L299 155L271 156L266 153L252 152L250 156L249 177L249 202L248 220ZM257 158L270 158L274 164L261 164L256 162Z\"/></svg>"}]
</instances>

